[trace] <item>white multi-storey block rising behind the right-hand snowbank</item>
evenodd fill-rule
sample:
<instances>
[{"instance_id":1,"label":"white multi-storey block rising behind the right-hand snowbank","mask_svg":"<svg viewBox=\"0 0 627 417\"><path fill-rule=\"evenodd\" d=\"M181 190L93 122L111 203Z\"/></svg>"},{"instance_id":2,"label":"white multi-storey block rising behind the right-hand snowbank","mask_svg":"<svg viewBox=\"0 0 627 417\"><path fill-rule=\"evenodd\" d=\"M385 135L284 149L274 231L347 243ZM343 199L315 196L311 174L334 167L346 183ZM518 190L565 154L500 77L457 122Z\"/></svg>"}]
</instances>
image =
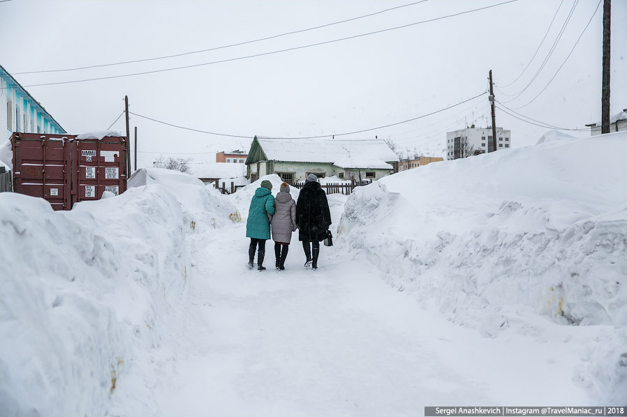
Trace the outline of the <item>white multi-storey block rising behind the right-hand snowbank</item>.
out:
<instances>
[{"instance_id":1,"label":"white multi-storey block rising behind the right-hand snowbank","mask_svg":"<svg viewBox=\"0 0 627 417\"><path fill-rule=\"evenodd\" d=\"M492 152L492 128L465 128L446 132L446 159ZM496 150L512 146L512 131L496 128Z\"/></svg>"}]
</instances>

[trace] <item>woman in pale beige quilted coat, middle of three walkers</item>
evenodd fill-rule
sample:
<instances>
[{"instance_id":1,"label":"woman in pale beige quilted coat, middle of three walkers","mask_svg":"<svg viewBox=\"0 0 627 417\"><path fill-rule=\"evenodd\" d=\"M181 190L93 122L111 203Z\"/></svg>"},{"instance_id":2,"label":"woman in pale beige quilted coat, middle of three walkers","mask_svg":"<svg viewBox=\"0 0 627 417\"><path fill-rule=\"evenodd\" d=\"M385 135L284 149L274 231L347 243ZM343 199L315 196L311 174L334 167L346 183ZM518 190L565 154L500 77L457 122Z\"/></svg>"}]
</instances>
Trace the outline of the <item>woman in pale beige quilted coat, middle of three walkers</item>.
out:
<instances>
[{"instance_id":1,"label":"woman in pale beige quilted coat, middle of three walkers","mask_svg":"<svg viewBox=\"0 0 627 417\"><path fill-rule=\"evenodd\" d=\"M292 232L296 231L296 202L290 195L288 183L282 183L279 194L274 197L274 215L271 224L276 269L283 271Z\"/></svg>"}]
</instances>

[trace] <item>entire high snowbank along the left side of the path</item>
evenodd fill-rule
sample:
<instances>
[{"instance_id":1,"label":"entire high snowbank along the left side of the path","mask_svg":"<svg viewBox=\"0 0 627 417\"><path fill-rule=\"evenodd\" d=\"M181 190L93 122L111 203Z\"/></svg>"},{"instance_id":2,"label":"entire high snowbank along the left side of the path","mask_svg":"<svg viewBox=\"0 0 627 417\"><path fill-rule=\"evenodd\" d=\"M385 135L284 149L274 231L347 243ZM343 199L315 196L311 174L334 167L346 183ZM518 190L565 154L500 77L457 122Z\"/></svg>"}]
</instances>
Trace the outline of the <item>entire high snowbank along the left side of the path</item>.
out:
<instances>
[{"instance_id":1,"label":"entire high snowbank along the left side of the path","mask_svg":"<svg viewBox=\"0 0 627 417\"><path fill-rule=\"evenodd\" d=\"M0 412L3 416L156 414L184 328L186 245L239 218L193 177L54 212L0 194Z\"/></svg>"}]
</instances>

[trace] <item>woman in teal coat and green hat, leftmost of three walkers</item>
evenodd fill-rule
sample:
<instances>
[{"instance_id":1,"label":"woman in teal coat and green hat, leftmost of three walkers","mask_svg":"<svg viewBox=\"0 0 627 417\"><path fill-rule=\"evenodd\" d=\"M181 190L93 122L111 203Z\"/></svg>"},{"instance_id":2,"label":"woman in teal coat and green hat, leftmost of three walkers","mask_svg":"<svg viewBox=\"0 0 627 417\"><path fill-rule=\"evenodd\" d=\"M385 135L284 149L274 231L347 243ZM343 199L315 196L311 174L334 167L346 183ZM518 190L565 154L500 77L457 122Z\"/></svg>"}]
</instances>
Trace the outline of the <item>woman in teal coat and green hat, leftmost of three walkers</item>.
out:
<instances>
[{"instance_id":1,"label":"woman in teal coat and green hat, leftmost of three walkers","mask_svg":"<svg viewBox=\"0 0 627 417\"><path fill-rule=\"evenodd\" d=\"M272 183L261 181L261 186L255 190L255 195L251 200L251 208L246 220L246 237L251 238L251 245L248 249L248 266L253 267L255 260L255 250L259 247L257 254L257 269L263 271L263 257L265 256L265 241L270 238L270 220L274 214L274 197L272 197Z\"/></svg>"}]
</instances>

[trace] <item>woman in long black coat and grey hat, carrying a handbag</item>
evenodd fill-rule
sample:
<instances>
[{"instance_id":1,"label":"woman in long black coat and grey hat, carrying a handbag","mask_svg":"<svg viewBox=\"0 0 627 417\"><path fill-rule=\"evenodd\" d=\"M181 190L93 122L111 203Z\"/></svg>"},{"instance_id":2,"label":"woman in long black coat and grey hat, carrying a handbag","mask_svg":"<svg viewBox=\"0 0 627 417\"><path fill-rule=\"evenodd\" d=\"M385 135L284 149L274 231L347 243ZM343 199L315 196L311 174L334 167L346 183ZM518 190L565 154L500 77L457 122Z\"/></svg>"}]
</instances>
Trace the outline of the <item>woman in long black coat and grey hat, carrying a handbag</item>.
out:
<instances>
[{"instance_id":1,"label":"woman in long black coat and grey hat, carrying a handbag","mask_svg":"<svg viewBox=\"0 0 627 417\"><path fill-rule=\"evenodd\" d=\"M331 225L331 212L327 202L327 193L320 188L318 177L314 174L307 176L305 185L298 195L296 225L298 227L298 240L302 241L302 248L307 257L305 267L311 266L312 269L317 269L320 242L327 238ZM313 257L311 257L312 252Z\"/></svg>"}]
</instances>

